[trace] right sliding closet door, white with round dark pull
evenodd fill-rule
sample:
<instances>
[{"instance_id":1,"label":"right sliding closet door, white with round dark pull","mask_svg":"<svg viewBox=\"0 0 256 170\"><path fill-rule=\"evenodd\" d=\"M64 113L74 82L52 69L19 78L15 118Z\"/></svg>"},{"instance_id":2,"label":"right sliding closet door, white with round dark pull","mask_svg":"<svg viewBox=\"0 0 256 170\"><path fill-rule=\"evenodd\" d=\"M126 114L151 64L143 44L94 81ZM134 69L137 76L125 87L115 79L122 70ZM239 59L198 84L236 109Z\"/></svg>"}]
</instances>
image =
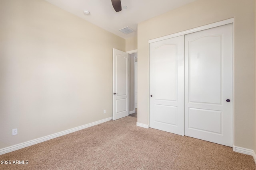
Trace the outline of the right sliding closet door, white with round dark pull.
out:
<instances>
[{"instance_id":1,"label":"right sliding closet door, white with round dark pull","mask_svg":"<svg viewBox=\"0 0 256 170\"><path fill-rule=\"evenodd\" d=\"M232 23L185 35L185 135L232 147Z\"/></svg>"}]
</instances>

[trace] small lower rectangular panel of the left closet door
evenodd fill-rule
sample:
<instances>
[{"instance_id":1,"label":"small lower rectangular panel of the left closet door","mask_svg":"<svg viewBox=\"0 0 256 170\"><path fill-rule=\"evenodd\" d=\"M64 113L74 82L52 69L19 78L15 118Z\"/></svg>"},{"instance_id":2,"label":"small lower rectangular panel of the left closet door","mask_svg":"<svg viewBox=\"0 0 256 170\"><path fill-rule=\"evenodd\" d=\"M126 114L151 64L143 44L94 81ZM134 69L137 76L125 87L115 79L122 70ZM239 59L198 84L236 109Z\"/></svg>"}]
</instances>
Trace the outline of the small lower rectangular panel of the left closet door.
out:
<instances>
[{"instance_id":1,"label":"small lower rectangular panel of the left closet door","mask_svg":"<svg viewBox=\"0 0 256 170\"><path fill-rule=\"evenodd\" d=\"M165 106L165 105L154 105L155 121L161 123L167 123L170 125L177 125L177 107Z\"/></svg>"}]
</instances>

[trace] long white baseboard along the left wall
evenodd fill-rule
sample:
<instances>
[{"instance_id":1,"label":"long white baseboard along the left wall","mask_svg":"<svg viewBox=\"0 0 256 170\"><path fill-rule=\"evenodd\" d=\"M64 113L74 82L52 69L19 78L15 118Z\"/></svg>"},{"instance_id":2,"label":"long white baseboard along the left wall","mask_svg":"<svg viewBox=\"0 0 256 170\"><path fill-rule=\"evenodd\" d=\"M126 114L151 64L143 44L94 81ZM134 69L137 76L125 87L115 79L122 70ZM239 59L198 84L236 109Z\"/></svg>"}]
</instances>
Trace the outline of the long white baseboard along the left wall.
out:
<instances>
[{"instance_id":1,"label":"long white baseboard along the left wall","mask_svg":"<svg viewBox=\"0 0 256 170\"><path fill-rule=\"evenodd\" d=\"M73 133L75 131L79 131L79 130L82 130L82 129L86 129L88 127L92 127L92 126L95 126L95 125L98 125L100 123L104 123L104 122L107 122L107 121L110 121L112 120L112 117L108 117L106 119L102 119L102 120L99 120L99 121L95 121L95 122L92 122L92 123L88 123L86 125L82 125L82 126L78 126L78 127L74 127L72 129L68 129L66 131L61 131L61 132L58 132L58 133L54 133L52 135L48 135L48 136L45 136L45 137L40 137L38 139L33 139L31 141L27 141L27 142L24 142L24 143L20 143L20 144L17 144L17 145L13 145L13 146L10 146L10 147L6 147L6 148L3 148L3 149L0 149L0 155L1 154L5 154L5 153L8 153L8 152L12 152L14 150L18 150L18 149L22 149L22 148L26 148L26 147L29 147L31 145L35 145L35 144L38 144L38 143L41 143L41 142L44 142L44 141L48 141L50 139L54 139L56 137L60 137L60 136L63 136L63 135L67 135L69 133Z\"/></svg>"}]
</instances>

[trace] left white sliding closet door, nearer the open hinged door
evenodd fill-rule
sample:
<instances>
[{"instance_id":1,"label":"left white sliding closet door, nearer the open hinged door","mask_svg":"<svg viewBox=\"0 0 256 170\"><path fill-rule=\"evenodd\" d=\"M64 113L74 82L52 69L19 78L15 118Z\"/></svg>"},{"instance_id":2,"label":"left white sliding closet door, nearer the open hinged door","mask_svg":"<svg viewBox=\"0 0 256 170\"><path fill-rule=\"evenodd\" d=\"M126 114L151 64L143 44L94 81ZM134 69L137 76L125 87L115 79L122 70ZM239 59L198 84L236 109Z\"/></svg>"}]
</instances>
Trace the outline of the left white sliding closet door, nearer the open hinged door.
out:
<instances>
[{"instance_id":1,"label":"left white sliding closet door, nearer the open hinged door","mask_svg":"<svg viewBox=\"0 0 256 170\"><path fill-rule=\"evenodd\" d=\"M150 43L150 122L184 135L184 35Z\"/></svg>"}]
</instances>

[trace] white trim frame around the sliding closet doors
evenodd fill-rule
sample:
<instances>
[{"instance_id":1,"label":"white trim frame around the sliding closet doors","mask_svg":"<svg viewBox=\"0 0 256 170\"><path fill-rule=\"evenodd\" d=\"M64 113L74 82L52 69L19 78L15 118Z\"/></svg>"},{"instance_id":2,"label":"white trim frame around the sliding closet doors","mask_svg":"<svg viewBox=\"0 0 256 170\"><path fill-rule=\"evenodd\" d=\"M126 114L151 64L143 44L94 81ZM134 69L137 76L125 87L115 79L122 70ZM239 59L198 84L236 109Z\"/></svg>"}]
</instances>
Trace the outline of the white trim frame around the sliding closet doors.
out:
<instances>
[{"instance_id":1,"label":"white trim frame around the sliding closet doors","mask_svg":"<svg viewBox=\"0 0 256 170\"><path fill-rule=\"evenodd\" d=\"M174 33L174 34L170 34L170 35L166 35L166 36L163 36L163 37L159 37L159 38L155 38L155 39L150 39L148 40L148 51L149 51L149 46L150 46L150 43L154 43L154 42L157 42L157 41L162 41L162 40L165 40L165 39L169 39L169 38L173 38L173 37L178 37L180 35L186 35L186 34L189 34L189 33L194 33L194 32L198 32L198 31L202 31L202 30L205 30L205 29L210 29L210 28L214 28L214 27L218 27L218 26L222 26L222 25L226 25L226 24L229 24L229 23L232 23L232 26L233 26L233 32L232 32L232 35L233 35L233 47L232 47L232 96L233 96L233 100L232 100L232 143L233 143L233 149L234 149L234 101L235 101L235 98L234 98L234 18L230 18L230 19L227 19L227 20L223 20L223 21L218 21L218 22L215 22L215 23L210 23L208 25L203 25L203 26L200 26L200 27L196 27L196 28L192 28L192 29L188 29L186 31L181 31L181 32L178 32L178 33ZM149 71L149 52L148 52L148 71ZM148 74L148 80L150 78L150 75ZM149 90L150 90L150 84L148 82L148 94L150 94ZM150 97L148 96L148 123L149 123L149 108L150 108L150 102L149 102L149 99Z\"/></svg>"}]
</instances>

